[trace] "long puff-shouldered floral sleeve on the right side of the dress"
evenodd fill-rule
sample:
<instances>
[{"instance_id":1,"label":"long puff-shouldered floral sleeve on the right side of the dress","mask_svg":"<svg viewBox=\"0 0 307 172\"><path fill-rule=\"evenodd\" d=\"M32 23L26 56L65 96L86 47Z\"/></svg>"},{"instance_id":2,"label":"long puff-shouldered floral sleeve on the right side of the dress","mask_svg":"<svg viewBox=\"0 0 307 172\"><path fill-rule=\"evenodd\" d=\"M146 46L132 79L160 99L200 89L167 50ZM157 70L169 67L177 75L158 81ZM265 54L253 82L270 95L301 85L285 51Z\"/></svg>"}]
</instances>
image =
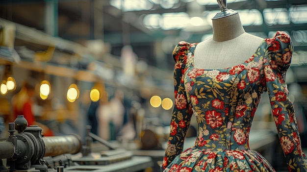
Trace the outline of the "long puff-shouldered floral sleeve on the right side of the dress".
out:
<instances>
[{"instance_id":1,"label":"long puff-shouldered floral sleeve on the right side of the dress","mask_svg":"<svg viewBox=\"0 0 307 172\"><path fill-rule=\"evenodd\" d=\"M285 82L290 67L293 46L290 36L278 31L275 37L266 39L264 73L266 87L276 123L281 147L290 172L306 172L307 158L302 151L301 140L295 119L293 103Z\"/></svg>"}]
</instances>

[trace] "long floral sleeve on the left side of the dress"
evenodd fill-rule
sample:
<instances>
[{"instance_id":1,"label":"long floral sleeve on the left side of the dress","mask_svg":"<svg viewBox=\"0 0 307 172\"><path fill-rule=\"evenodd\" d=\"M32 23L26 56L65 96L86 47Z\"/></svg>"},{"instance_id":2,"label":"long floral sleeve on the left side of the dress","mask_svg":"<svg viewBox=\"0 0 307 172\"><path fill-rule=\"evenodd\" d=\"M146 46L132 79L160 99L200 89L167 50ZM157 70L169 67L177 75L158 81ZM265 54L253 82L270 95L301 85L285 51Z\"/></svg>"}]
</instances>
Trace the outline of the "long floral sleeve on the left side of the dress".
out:
<instances>
[{"instance_id":1,"label":"long floral sleeve on the left side of the dress","mask_svg":"<svg viewBox=\"0 0 307 172\"><path fill-rule=\"evenodd\" d=\"M166 169L175 157L182 152L186 131L193 114L187 101L183 82L190 45L187 42L181 41L173 51L173 58L176 62L174 69L175 105L171 117L170 135L163 159L163 169Z\"/></svg>"}]
</instances>

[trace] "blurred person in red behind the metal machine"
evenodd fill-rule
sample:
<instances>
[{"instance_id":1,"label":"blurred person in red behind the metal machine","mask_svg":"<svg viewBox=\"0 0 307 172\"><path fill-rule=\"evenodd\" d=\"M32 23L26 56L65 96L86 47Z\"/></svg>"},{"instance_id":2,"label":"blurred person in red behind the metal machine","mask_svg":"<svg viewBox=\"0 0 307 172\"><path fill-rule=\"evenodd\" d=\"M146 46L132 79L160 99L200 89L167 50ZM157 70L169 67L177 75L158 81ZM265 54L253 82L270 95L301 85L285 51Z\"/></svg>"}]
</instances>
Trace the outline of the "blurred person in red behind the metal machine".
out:
<instances>
[{"instance_id":1,"label":"blurred person in red behind the metal machine","mask_svg":"<svg viewBox=\"0 0 307 172\"><path fill-rule=\"evenodd\" d=\"M24 81L21 90L12 97L12 116L16 119L17 116L23 115L28 122L28 126L37 125L43 129L44 136L53 136L53 132L48 126L38 123L35 119L32 109L34 106L35 85L36 82L33 79Z\"/></svg>"}]
</instances>

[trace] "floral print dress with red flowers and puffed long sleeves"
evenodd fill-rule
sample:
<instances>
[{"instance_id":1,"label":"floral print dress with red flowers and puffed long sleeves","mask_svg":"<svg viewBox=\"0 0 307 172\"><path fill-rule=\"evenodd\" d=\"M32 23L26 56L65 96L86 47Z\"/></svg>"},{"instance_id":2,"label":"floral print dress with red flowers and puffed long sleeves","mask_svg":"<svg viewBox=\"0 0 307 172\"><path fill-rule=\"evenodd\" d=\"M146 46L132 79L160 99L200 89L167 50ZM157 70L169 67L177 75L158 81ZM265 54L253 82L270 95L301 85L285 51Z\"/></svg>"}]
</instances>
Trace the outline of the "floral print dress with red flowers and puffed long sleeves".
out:
<instances>
[{"instance_id":1,"label":"floral print dress with red flowers and puffed long sleeves","mask_svg":"<svg viewBox=\"0 0 307 172\"><path fill-rule=\"evenodd\" d=\"M247 61L226 69L194 68L196 46L182 41L173 52L175 107L164 172L275 172L249 148L252 121L265 91L289 171L306 172L307 158L284 80L293 51L289 35L278 31L263 40ZM195 146L182 152L192 114L198 136Z\"/></svg>"}]
</instances>

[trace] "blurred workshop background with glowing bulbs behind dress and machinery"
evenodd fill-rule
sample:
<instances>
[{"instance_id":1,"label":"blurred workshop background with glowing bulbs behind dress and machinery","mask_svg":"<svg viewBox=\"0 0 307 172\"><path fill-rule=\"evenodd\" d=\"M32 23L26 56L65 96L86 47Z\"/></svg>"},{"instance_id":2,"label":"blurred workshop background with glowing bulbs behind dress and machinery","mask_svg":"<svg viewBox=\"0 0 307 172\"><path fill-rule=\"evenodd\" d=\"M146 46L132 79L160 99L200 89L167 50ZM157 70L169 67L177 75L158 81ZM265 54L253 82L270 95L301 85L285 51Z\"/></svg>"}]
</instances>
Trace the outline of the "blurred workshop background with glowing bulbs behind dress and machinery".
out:
<instances>
[{"instance_id":1,"label":"blurred workshop background with glowing bulbs behind dress and machinery","mask_svg":"<svg viewBox=\"0 0 307 172\"><path fill-rule=\"evenodd\" d=\"M246 32L290 34L286 81L305 149L307 1L228 0L227 7L239 12ZM1 138L17 115L45 136L84 138L90 125L113 145L151 156L158 168L174 106L172 51L179 41L212 36L217 12L216 0L0 0ZM186 147L194 145L196 127L193 118ZM276 137L264 93L250 144L283 171Z\"/></svg>"}]
</instances>

